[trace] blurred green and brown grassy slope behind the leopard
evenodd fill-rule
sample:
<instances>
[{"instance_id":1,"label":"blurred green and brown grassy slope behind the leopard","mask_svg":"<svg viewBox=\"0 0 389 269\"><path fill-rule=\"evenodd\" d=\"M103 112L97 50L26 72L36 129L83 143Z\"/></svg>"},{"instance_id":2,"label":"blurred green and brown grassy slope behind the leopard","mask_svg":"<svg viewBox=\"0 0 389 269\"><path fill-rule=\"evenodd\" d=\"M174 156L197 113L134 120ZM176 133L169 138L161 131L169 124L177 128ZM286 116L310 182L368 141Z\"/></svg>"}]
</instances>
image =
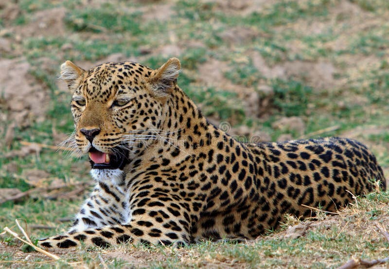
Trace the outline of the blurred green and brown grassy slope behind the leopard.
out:
<instances>
[{"instance_id":1,"label":"blurred green and brown grassy slope behind the leopard","mask_svg":"<svg viewBox=\"0 0 389 269\"><path fill-rule=\"evenodd\" d=\"M0 2L0 227L62 232L90 189L59 66L182 64L179 86L255 142L359 139L389 172L387 0ZM50 230L54 227L55 231Z\"/></svg>"}]
</instances>

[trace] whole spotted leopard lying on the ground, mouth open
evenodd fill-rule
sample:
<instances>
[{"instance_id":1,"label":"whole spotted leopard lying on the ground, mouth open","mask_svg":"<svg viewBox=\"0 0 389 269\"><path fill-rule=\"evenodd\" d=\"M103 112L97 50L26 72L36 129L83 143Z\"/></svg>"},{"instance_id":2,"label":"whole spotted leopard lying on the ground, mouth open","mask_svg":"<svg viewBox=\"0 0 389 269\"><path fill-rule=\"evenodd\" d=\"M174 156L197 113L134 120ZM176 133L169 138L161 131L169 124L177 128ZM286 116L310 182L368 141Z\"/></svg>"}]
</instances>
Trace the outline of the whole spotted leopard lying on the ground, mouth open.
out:
<instances>
[{"instance_id":1,"label":"whole spotted leopard lying on the ground, mouth open","mask_svg":"<svg viewBox=\"0 0 389 269\"><path fill-rule=\"evenodd\" d=\"M177 85L177 58L157 69L131 61L60 69L75 150L88 154L95 186L68 232L41 247L250 240L285 214L313 218L312 208L336 212L377 183L386 189L376 157L354 139L234 139Z\"/></svg>"}]
</instances>

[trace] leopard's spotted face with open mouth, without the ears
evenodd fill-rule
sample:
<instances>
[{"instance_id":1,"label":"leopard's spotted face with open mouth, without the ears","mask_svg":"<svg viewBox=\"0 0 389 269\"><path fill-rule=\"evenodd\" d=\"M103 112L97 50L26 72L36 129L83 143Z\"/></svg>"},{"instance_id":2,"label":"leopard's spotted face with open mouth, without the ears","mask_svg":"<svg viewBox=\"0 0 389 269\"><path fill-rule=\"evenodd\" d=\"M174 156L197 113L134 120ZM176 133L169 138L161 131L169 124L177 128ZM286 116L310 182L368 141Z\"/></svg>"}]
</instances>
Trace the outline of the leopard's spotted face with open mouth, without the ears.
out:
<instances>
[{"instance_id":1,"label":"leopard's spotted face with open mouth, without the ears","mask_svg":"<svg viewBox=\"0 0 389 269\"><path fill-rule=\"evenodd\" d=\"M115 162L115 155L123 157L128 153L135 143L131 134L158 128L162 103L150 95L144 76L128 75L133 69L144 71L145 67L95 67L73 93L71 112L76 143L80 151L89 152L93 168L120 167L123 158Z\"/></svg>"}]
</instances>

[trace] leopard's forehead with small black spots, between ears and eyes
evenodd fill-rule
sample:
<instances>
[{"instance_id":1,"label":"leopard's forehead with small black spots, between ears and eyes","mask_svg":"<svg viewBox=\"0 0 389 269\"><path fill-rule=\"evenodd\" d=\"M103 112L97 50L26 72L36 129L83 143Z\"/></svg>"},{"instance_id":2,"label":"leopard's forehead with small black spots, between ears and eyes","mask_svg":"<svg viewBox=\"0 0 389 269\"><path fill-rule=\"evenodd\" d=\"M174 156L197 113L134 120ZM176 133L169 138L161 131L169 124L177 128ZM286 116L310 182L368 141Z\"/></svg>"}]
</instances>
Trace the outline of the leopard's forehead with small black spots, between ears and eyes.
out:
<instances>
[{"instance_id":1,"label":"leopard's forehead with small black spots, between ears and eyes","mask_svg":"<svg viewBox=\"0 0 389 269\"><path fill-rule=\"evenodd\" d=\"M136 91L153 71L133 62L101 64L88 70L78 93L104 102L118 93Z\"/></svg>"}]
</instances>

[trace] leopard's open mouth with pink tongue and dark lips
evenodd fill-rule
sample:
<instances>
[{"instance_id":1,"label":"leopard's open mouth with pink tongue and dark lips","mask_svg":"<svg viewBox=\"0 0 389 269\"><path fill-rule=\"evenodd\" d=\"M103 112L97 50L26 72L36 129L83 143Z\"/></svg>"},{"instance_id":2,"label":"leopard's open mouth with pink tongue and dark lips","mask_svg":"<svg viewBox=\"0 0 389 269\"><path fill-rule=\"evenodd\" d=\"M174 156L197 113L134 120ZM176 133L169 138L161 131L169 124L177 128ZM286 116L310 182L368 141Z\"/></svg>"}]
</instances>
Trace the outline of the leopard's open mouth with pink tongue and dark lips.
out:
<instances>
[{"instance_id":1,"label":"leopard's open mouth with pink tongue and dark lips","mask_svg":"<svg viewBox=\"0 0 389 269\"><path fill-rule=\"evenodd\" d=\"M115 147L112 152L115 153L106 153L91 147L88 152L90 166L93 169L123 169L128 162L128 150Z\"/></svg>"}]
</instances>

